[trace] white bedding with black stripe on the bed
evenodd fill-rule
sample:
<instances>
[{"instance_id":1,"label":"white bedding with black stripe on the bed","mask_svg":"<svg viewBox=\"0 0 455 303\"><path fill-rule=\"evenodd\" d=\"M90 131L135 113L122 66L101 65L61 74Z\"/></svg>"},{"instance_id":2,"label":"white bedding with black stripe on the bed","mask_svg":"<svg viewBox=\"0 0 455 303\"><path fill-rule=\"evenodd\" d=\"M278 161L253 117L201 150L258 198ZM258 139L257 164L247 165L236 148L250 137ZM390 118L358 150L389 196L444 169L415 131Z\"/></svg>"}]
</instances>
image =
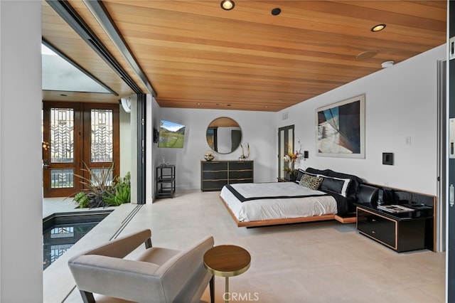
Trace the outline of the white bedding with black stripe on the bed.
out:
<instances>
[{"instance_id":1,"label":"white bedding with black stripe on the bed","mask_svg":"<svg viewBox=\"0 0 455 303\"><path fill-rule=\"evenodd\" d=\"M231 184L242 196L249 198L252 193L259 197L323 195L293 182ZM261 198L240 202L225 186L221 189L223 198L240 222L298 218L336 214L335 198L332 196L311 196L306 198Z\"/></svg>"}]
</instances>

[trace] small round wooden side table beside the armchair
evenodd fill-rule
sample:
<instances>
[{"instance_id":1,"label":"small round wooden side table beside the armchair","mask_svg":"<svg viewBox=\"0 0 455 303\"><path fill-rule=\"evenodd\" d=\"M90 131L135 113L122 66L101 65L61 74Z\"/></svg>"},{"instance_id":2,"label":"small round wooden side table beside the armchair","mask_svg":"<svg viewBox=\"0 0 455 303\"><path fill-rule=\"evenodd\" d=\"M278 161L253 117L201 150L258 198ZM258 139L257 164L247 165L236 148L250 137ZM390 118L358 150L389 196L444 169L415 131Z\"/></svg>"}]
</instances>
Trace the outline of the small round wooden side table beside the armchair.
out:
<instances>
[{"instance_id":1,"label":"small round wooden side table beside the armchair","mask_svg":"<svg viewBox=\"0 0 455 303\"><path fill-rule=\"evenodd\" d=\"M236 245L218 245L204 254L204 267L212 275L225 277L225 302L229 302L229 277L241 275L250 268L251 255L245 248ZM213 281L213 280L211 280ZM214 292L213 284L210 285L211 292Z\"/></svg>"}]
</instances>

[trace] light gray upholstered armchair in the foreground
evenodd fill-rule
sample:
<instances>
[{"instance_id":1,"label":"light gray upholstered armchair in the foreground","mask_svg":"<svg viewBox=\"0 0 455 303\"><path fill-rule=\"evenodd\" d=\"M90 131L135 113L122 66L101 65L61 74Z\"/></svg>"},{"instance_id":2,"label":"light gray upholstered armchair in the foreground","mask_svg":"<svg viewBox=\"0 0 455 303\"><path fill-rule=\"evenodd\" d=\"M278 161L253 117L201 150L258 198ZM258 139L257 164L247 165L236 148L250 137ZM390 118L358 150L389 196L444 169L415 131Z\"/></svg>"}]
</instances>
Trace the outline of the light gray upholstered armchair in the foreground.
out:
<instances>
[{"instance_id":1,"label":"light gray upholstered armchair in the foreground","mask_svg":"<svg viewBox=\"0 0 455 303\"><path fill-rule=\"evenodd\" d=\"M152 248L150 238L151 231L142 230L68 260L84 302L95 302L93 293L103 295L97 302L199 302L209 282L213 302L213 275L203 265L213 237L186 250ZM139 258L124 259L142 243Z\"/></svg>"}]
</instances>

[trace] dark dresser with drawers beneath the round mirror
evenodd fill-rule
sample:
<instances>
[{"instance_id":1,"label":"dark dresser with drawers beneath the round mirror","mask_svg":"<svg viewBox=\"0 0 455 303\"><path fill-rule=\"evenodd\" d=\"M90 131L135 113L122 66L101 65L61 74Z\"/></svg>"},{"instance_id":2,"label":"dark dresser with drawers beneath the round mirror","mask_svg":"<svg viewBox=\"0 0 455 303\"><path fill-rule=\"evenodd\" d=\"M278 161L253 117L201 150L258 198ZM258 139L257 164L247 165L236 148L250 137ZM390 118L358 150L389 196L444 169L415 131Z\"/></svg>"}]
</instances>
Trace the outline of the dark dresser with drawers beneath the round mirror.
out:
<instances>
[{"instance_id":1,"label":"dark dresser with drawers beneath the round mirror","mask_svg":"<svg viewBox=\"0 0 455 303\"><path fill-rule=\"evenodd\" d=\"M226 184L253 181L254 161L200 161L201 191L220 191Z\"/></svg>"}]
</instances>

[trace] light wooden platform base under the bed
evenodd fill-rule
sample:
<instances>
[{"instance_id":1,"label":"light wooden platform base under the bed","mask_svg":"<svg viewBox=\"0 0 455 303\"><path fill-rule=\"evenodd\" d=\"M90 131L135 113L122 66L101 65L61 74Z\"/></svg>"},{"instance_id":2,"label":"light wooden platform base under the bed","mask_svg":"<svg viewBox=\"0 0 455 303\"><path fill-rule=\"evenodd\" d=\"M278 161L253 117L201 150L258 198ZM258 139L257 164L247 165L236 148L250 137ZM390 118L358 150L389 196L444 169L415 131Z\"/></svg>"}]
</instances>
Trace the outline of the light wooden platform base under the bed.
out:
<instances>
[{"instance_id":1,"label":"light wooden platform base under the bed","mask_svg":"<svg viewBox=\"0 0 455 303\"><path fill-rule=\"evenodd\" d=\"M235 217L234 213L232 213L231 209L229 208L226 201L221 198L223 204L225 205L226 209L228 209L230 216L235 221L238 227L255 227L255 226L267 226L267 225L279 225L279 224L291 224L291 223L303 223L303 222L316 222L316 221L325 221L325 220L337 220L341 223L355 223L355 213L351 214L352 216L341 217L338 215L323 215L323 216L308 216L308 217L297 217L297 218L280 218L280 219L269 219L269 220L255 220L255 221L247 221L247 222L240 222Z\"/></svg>"}]
</instances>

